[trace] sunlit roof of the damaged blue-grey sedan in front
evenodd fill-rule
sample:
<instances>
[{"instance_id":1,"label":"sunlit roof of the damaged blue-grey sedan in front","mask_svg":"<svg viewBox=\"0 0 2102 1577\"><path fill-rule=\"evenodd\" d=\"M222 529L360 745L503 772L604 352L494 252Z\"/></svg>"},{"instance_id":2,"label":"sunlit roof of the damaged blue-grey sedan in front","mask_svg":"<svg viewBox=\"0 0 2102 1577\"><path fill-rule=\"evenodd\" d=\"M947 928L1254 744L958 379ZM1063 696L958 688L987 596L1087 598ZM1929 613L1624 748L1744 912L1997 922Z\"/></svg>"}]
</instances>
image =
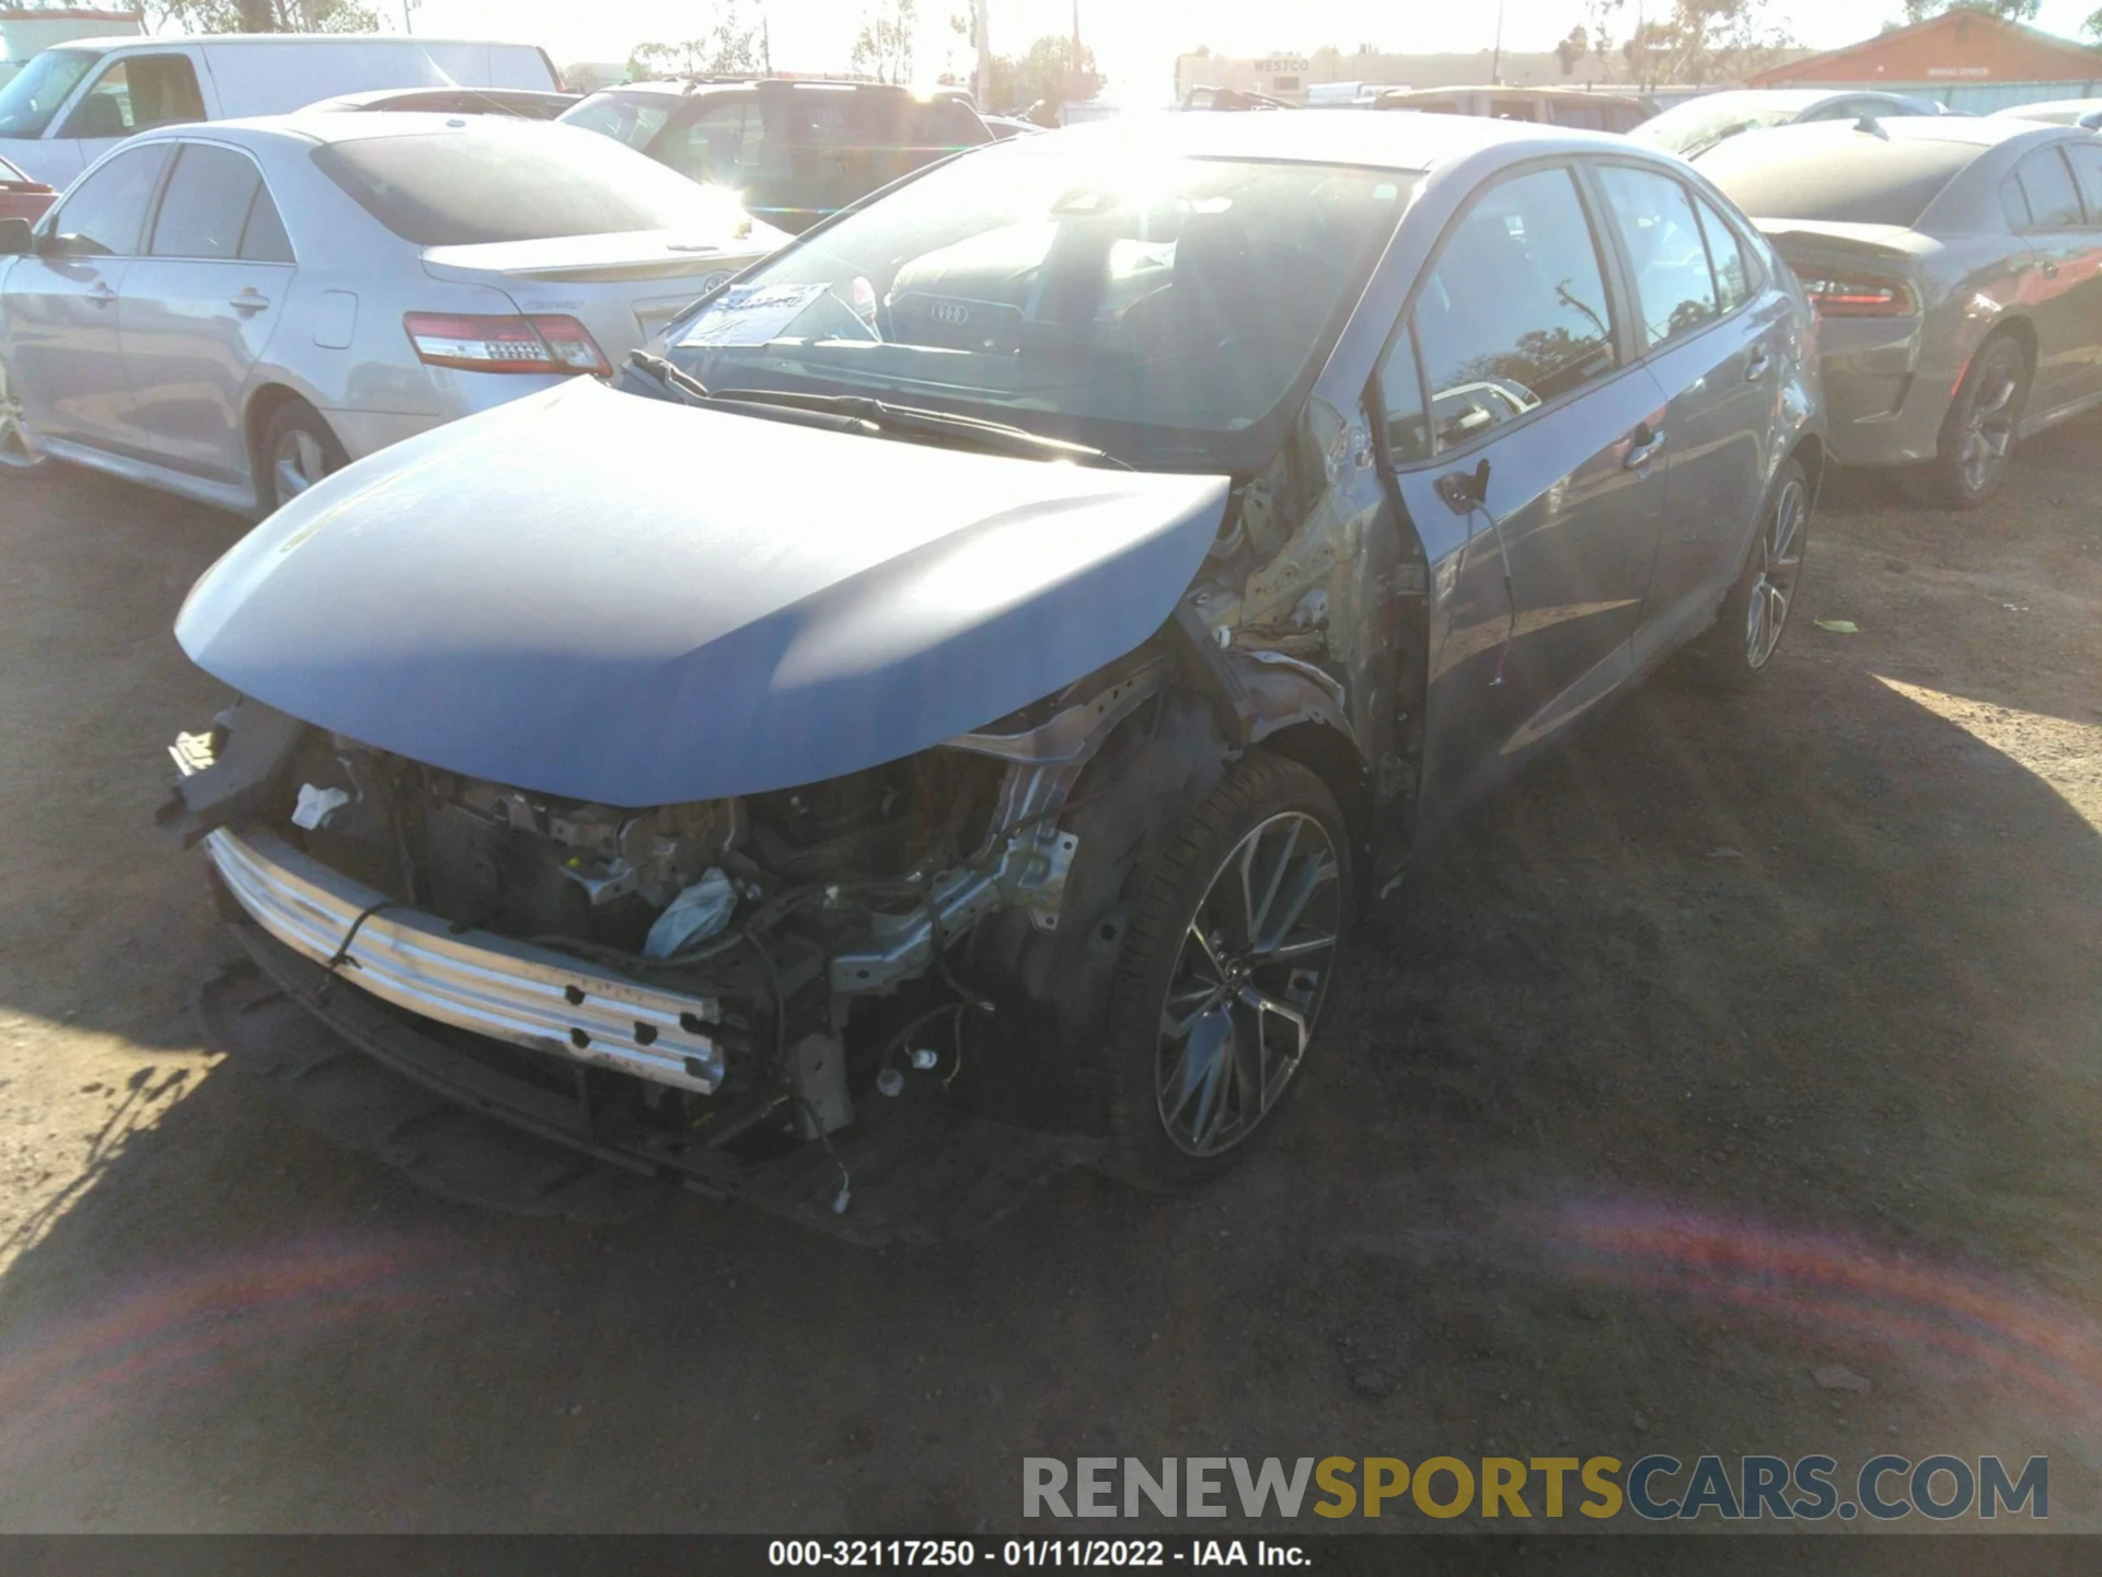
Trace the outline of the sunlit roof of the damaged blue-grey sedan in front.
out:
<instances>
[{"instance_id":1,"label":"sunlit roof of the damaged blue-grey sedan in front","mask_svg":"<svg viewBox=\"0 0 2102 1577\"><path fill-rule=\"evenodd\" d=\"M1068 126L1028 139L1032 149L1059 139L1112 141L1135 153L1181 158L1291 160L1303 164L1360 164L1381 170L1431 170L1484 147L1524 147L1528 153L1610 151L1646 153L1625 137L1543 126L1532 120L1417 114L1278 114L1181 116L1133 114L1118 120Z\"/></svg>"}]
</instances>

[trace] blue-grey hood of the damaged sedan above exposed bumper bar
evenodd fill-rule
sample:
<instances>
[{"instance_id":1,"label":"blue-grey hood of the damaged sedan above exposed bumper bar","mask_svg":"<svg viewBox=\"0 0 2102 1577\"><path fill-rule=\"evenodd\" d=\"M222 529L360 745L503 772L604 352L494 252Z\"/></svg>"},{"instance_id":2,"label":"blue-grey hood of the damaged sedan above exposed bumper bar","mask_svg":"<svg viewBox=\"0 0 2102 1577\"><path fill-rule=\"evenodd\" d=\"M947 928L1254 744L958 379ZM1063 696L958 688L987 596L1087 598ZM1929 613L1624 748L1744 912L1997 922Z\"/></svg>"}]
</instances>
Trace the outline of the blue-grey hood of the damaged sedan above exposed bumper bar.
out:
<instances>
[{"instance_id":1,"label":"blue-grey hood of the damaged sedan above exposed bumper bar","mask_svg":"<svg viewBox=\"0 0 2102 1577\"><path fill-rule=\"evenodd\" d=\"M574 378L311 488L174 633L235 690L416 761L717 799L923 751L1129 652L1225 494Z\"/></svg>"}]
</instances>

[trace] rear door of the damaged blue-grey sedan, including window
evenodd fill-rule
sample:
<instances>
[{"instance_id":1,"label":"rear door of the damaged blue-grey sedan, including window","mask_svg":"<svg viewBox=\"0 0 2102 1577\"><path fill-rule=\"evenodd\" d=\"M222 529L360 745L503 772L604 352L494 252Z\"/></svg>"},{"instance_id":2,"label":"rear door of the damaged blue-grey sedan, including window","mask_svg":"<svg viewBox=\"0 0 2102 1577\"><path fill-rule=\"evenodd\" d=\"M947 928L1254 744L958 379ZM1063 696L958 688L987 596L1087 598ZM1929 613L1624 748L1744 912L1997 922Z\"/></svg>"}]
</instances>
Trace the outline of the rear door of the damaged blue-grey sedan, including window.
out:
<instances>
[{"instance_id":1,"label":"rear door of the damaged blue-grey sedan, including window","mask_svg":"<svg viewBox=\"0 0 2102 1577\"><path fill-rule=\"evenodd\" d=\"M1644 366L1667 400L1665 524L1644 627L1671 641L1722 599L1751 538L1780 376L1778 307L1753 309L1749 252L1684 181L1616 162L1593 175L1621 242ZM1637 639L1637 656L1648 654Z\"/></svg>"}]
</instances>

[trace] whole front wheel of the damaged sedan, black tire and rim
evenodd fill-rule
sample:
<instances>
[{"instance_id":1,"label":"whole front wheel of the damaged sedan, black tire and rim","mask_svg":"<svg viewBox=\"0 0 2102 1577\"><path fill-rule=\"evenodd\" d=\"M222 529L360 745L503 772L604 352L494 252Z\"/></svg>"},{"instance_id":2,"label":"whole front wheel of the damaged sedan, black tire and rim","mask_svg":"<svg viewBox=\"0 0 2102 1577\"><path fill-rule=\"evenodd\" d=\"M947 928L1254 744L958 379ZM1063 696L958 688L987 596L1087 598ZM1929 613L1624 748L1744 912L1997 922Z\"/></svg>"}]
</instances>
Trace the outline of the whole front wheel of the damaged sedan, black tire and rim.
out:
<instances>
[{"instance_id":1,"label":"whole front wheel of the damaged sedan, black tire and rim","mask_svg":"<svg viewBox=\"0 0 2102 1577\"><path fill-rule=\"evenodd\" d=\"M1253 877L1217 887L1230 868ZM1343 812L1314 772L1263 753L1228 772L1162 852L1125 934L1104 1171L1135 1188L1190 1188L1276 1127L1341 963L1349 881ZM1165 1032L1171 1001L1190 1022L1181 1037Z\"/></svg>"}]
</instances>

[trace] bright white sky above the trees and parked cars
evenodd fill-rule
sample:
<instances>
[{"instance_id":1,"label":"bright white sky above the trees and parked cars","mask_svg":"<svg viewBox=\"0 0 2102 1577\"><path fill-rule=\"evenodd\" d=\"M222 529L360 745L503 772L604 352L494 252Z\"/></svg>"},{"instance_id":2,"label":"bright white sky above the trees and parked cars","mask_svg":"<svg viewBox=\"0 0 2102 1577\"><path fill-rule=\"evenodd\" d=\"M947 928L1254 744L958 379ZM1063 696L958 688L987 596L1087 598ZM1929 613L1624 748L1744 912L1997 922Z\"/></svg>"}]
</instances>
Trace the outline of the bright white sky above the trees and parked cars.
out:
<instances>
[{"instance_id":1,"label":"bright white sky above the trees and parked cars","mask_svg":"<svg viewBox=\"0 0 2102 1577\"><path fill-rule=\"evenodd\" d=\"M702 32L708 0L408 0L414 32L456 38L515 38L547 46L561 61L620 61L643 40L675 40ZM391 27L401 25L404 0L372 0ZM1156 103L1173 97L1175 57L1209 44L1221 55L1303 55L1322 44L1434 55L1488 48L1497 36L1495 0L1427 4L1425 0L1078 0L1080 36L1108 74L1106 97ZM1623 13L1631 19L1637 0ZM1652 0L1658 8L1663 0ZM2043 0L2039 27L2077 36L2102 0ZM780 69L843 71L860 32L866 0L740 0L763 6ZM965 0L919 0L921 71L942 69L954 38L944 19ZM1770 0L1770 15L1812 48L1837 48L1873 36L1902 17L1900 0ZM1553 48L1585 19L1581 0L1505 0L1503 44ZM992 0L992 46L1019 55L1043 34L1072 27L1072 0ZM1627 32L1623 21L1619 32ZM956 65L967 69L963 50Z\"/></svg>"}]
</instances>

